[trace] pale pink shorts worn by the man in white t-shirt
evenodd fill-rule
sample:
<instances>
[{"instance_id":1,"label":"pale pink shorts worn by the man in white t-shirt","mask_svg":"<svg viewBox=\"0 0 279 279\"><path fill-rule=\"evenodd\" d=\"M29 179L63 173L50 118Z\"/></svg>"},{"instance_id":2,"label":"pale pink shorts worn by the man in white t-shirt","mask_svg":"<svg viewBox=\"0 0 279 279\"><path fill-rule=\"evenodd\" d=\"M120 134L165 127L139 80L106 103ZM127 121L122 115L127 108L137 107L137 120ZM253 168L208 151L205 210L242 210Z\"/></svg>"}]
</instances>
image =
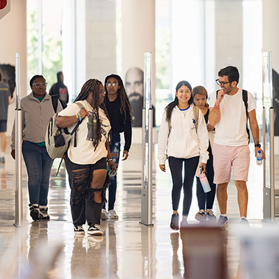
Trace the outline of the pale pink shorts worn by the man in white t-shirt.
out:
<instances>
[{"instance_id":1,"label":"pale pink shorts worn by the man in white t-shirt","mask_svg":"<svg viewBox=\"0 0 279 279\"><path fill-rule=\"evenodd\" d=\"M216 184L234 181L248 181L250 149L248 145L227 146L213 143L213 167Z\"/></svg>"}]
</instances>

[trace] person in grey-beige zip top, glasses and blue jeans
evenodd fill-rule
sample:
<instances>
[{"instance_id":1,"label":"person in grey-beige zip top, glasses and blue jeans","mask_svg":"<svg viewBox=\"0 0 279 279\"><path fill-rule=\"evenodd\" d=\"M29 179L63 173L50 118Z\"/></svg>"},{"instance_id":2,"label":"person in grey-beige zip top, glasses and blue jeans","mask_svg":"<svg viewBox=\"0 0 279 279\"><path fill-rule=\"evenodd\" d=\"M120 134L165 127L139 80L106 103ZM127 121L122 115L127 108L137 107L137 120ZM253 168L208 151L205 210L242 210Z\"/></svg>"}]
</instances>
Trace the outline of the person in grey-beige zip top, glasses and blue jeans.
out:
<instances>
[{"instance_id":1,"label":"person in grey-beige zip top, glasses and blue jeans","mask_svg":"<svg viewBox=\"0 0 279 279\"><path fill-rule=\"evenodd\" d=\"M63 110L60 102L56 110L47 94L43 75L30 80L32 92L20 100L22 110L22 155L28 174L29 209L33 220L50 219L47 213L47 195L53 160L45 147L45 133L50 118ZM11 156L15 159L15 123L13 125Z\"/></svg>"}]
</instances>

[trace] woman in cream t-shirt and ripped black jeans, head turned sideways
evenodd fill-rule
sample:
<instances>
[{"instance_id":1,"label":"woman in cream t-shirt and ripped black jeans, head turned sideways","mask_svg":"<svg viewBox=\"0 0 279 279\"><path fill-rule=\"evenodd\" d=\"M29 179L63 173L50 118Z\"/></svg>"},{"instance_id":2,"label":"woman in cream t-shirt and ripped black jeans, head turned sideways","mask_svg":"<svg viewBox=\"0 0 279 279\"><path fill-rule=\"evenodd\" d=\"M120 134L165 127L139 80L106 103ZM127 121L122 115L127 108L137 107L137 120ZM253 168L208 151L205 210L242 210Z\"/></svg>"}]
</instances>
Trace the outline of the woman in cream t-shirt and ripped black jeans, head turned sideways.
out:
<instances>
[{"instance_id":1,"label":"woman in cream t-shirt and ripped black jeans, head turned sideways","mask_svg":"<svg viewBox=\"0 0 279 279\"><path fill-rule=\"evenodd\" d=\"M109 167L115 169L110 156L110 120L103 103L104 86L99 80L88 80L82 86L73 104L59 113L56 125L77 130L77 141L72 140L65 163L70 183L70 207L75 234L84 234L87 221L88 234L103 235L100 230L100 214L103 192Z\"/></svg>"}]
</instances>

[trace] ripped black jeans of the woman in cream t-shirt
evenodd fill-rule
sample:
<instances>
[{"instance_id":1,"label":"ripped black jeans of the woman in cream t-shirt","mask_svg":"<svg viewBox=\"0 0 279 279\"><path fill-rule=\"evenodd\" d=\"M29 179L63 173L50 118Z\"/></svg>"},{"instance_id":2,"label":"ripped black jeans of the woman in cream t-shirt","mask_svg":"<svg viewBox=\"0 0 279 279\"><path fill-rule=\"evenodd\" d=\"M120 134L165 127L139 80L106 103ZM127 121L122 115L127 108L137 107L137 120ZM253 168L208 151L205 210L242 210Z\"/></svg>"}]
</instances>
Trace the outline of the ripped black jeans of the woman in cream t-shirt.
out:
<instances>
[{"instance_id":1,"label":"ripped black jeans of the woman in cream t-shirt","mask_svg":"<svg viewBox=\"0 0 279 279\"><path fill-rule=\"evenodd\" d=\"M93 189L90 183L95 169L107 169L107 158L102 158L95 164L78 165L65 156L65 165L70 184L70 210L73 224L83 225L87 221L88 225L100 225L103 202L97 203L93 197L96 190L103 192L105 189Z\"/></svg>"}]
</instances>

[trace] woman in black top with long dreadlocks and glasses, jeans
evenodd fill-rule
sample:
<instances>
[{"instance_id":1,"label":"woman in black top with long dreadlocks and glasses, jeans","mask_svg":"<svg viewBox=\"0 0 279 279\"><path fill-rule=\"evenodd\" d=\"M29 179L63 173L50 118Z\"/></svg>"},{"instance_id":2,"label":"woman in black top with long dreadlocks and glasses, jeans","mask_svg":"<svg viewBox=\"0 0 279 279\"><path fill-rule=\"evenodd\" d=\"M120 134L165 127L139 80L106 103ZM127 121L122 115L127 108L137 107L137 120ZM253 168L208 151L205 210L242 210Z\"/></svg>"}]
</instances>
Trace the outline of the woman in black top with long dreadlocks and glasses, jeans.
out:
<instances>
[{"instance_id":1,"label":"woman in black top with long dreadlocks and glasses, jeans","mask_svg":"<svg viewBox=\"0 0 279 279\"><path fill-rule=\"evenodd\" d=\"M105 204L102 209L102 220L118 219L114 210L114 203L116 197L116 172L119 165L120 156L120 133L124 133L124 150L122 160L127 160L129 156L129 149L132 141L132 105L128 100L123 81L119 75L108 75L105 78L105 107L110 116L110 124L112 126L112 141L110 143L110 152L112 161L116 165L114 172L110 172L110 187L108 198L108 213L105 210Z\"/></svg>"}]
</instances>

